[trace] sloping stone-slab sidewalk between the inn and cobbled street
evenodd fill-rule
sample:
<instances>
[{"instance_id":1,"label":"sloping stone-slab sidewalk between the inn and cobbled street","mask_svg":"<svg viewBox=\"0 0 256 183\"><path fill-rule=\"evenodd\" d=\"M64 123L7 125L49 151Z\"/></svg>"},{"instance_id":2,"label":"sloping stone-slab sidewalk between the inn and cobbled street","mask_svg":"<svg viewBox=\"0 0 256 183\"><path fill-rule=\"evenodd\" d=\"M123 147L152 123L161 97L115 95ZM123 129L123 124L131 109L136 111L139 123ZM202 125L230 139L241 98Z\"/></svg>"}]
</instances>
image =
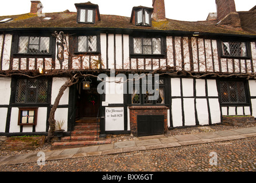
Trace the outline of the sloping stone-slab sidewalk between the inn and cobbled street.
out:
<instances>
[{"instance_id":1,"label":"sloping stone-slab sidewalk between the inn and cobbled street","mask_svg":"<svg viewBox=\"0 0 256 183\"><path fill-rule=\"evenodd\" d=\"M84 148L48 150L43 152L45 155L45 161L51 161L63 160L67 158L127 153L139 150L173 148L185 145L238 140L248 137L256 137L256 126L251 128L242 128L209 133L184 134L173 137L165 137L164 135L139 137L137 140L133 141L114 142L112 144L88 146ZM0 165L37 162L38 158L40 158L40 154L38 154L38 152L19 154L16 156L2 156L0 157Z\"/></svg>"}]
</instances>

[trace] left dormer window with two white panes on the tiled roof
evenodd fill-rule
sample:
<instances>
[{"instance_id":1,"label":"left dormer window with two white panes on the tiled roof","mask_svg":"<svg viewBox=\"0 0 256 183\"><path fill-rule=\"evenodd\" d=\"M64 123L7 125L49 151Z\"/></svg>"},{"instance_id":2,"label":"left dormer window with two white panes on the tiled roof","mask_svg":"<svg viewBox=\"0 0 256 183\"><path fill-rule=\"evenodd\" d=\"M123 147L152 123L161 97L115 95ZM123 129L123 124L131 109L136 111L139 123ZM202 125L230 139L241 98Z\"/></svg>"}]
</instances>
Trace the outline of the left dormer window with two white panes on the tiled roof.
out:
<instances>
[{"instance_id":1,"label":"left dormer window with two white panes on the tiled roof","mask_svg":"<svg viewBox=\"0 0 256 183\"><path fill-rule=\"evenodd\" d=\"M96 23L100 21L99 6L91 2L76 3L77 23Z\"/></svg>"}]
</instances>

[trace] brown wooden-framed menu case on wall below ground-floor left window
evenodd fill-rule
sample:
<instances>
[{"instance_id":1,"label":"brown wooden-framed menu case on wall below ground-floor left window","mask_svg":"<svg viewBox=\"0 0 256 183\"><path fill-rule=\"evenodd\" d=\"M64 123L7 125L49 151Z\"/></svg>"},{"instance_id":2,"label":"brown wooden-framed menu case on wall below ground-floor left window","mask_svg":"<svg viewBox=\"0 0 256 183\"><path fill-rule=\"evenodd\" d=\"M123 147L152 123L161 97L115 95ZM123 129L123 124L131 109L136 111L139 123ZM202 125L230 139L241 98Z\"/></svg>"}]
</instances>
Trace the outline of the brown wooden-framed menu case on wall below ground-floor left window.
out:
<instances>
[{"instance_id":1,"label":"brown wooden-framed menu case on wall below ground-floor left window","mask_svg":"<svg viewBox=\"0 0 256 183\"><path fill-rule=\"evenodd\" d=\"M19 108L18 125L36 125L38 108Z\"/></svg>"}]
</instances>

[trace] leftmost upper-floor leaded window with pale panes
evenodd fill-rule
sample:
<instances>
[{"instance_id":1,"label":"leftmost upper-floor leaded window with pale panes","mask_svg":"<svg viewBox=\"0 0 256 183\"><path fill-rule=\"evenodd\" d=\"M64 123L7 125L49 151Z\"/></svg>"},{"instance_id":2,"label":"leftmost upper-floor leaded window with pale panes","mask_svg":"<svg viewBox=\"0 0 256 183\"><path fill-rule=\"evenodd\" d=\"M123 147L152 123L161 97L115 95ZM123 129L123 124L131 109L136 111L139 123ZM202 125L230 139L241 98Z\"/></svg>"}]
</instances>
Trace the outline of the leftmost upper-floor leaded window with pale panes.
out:
<instances>
[{"instance_id":1,"label":"leftmost upper-floor leaded window with pale panes","mask_svg":"<svg viewBox=\"0 0 256 183\"><path fill-rule=\"evenodd\" d=\"M25 37L21 36L18 43L18 53L49 54L49 37Z\"/></svg>"}]
</instances>

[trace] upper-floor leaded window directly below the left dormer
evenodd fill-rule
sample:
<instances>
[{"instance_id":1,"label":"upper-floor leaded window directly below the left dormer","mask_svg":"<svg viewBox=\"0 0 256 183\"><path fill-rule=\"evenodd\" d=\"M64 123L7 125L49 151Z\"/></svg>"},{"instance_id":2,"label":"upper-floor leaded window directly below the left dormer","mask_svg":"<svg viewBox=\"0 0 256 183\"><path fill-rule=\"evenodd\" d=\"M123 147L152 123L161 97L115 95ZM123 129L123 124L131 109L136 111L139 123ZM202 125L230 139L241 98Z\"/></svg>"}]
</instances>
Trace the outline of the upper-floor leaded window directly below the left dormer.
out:
<instances>
[{"instance_id":1,"label":"upper-floor leaded window directly below the left dormer","mask_svg":"<svg viewBox=\"0 0 256 183\"><path fill-rule=\"evenodd\" d=\"M97 51L96 35L79 36L77 51L78 52L96 52Z\"/></svg>"}]
</instances>

